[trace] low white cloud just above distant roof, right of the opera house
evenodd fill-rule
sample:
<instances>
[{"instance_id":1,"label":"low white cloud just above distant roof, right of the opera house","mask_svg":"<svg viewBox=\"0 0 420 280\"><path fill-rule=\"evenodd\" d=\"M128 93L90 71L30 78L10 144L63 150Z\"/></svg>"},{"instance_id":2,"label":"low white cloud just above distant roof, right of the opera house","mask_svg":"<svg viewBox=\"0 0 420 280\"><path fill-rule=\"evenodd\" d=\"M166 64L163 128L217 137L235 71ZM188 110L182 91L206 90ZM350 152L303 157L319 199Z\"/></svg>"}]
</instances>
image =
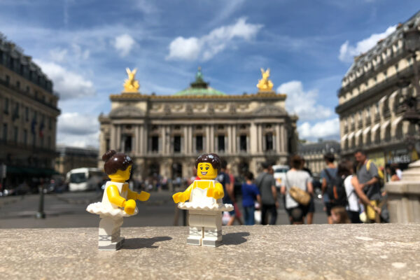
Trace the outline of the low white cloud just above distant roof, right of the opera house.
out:
<instances>
[{"instance_id":1,"label":"low white cloud just above distant roof, right of the opera house","mask_svg":"<svg viewBox=\"0 0 420 280\"><path fill-rule=\"evenodd\" d=\"M308 122L302 123L297 127L300 139L316 140L322 139L339 139L339 120L333 118L323 120L311 125Z\"/></svg>"}]
</instances>

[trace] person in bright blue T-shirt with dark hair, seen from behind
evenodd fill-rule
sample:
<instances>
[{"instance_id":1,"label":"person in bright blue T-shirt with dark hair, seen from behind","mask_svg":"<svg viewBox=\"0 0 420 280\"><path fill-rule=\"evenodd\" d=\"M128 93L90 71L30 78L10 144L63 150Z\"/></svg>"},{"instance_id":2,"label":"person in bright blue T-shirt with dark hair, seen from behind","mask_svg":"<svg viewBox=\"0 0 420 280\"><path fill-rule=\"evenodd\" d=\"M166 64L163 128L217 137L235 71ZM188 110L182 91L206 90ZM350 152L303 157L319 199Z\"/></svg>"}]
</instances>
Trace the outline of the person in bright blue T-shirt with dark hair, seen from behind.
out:
<instances>
[{"instance_id":1,"label":"person in bright blue T-shirt with dark hair, seen from behind","mask_svg":"<svg viewBox=\"0 0 420 280\"><path fill-rule=\"evenodd\" d=\"M242 207L244 207L245 225L255 225L255 200L261 205L260 190L253 183L253 174L246 172L246 182L242 184Z\"/></svg>"}]
</instances>

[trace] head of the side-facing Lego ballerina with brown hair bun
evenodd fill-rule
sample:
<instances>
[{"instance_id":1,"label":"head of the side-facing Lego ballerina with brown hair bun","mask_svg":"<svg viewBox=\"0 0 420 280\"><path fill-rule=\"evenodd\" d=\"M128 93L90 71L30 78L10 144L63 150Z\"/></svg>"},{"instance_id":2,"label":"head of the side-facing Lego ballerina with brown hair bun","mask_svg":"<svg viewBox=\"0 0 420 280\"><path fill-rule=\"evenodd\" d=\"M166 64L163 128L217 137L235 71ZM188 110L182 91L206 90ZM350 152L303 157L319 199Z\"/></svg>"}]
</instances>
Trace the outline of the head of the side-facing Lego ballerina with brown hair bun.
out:
<instances>
[{"instance_id":1,"label":"head of the side-facing Lego ballerina with brown hair bun","mask_svg":"<svg viewBox=\"0 0 420 280\"><path fill-rule=\"evenodd\" d=\"M125 182L130 179L133 161L128 155L110 150L102 155L102 160L105 162L105 173L111 181Z\"/></svg>"}]
</instances>

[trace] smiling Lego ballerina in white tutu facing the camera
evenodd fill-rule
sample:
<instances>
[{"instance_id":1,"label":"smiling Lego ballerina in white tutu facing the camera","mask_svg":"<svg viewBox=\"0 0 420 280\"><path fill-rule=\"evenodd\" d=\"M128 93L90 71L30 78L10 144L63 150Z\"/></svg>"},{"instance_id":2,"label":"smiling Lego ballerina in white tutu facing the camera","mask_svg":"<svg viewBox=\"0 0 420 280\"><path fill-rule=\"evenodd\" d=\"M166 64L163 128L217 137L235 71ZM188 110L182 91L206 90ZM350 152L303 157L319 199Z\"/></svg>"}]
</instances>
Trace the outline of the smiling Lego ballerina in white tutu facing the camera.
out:
<instances>
[{"instance_id":1,"label":"smiling Lego ballerina in white tutu facing the camera","mask_svg":"<svg viewBox=\"0 0 420 280\"><path fill-rule=\"evenodd\" d=\"M215 153L206 153L197 158L195 167L200 180L172 197L180 209L189 210L187 244L217 247L222 244L222 212L233 210L232 204L222 203L223 186L214 180L221 160Z\"/></svg>"}]
</instances>

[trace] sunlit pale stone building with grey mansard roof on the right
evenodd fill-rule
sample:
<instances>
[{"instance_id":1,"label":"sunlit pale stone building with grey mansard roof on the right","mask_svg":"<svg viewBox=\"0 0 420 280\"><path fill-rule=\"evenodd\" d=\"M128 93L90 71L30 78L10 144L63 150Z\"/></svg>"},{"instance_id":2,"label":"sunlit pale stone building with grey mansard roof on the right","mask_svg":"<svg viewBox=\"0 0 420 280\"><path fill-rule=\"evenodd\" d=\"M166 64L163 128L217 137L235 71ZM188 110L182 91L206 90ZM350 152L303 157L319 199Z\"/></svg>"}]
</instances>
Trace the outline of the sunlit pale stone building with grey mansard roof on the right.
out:
<instances>
[{"instance_id":1,"label":"sunlit pale stone building with grey mansard roof on the right","mask_svg":"<svg viewBox=\"0 0 420 280\"><path fill-rule=\"evenodd\" d=\"M419 130L402 120L403 99L413 96L414 55L405 48L405 31L419 28L416 13L372 49L355 57L339 89L339 114L342 155L350 157L358 148L377 165L407 164L419 158L420 144L407 144L407 135ZM420 55L416 56L417 65ZM408 82L407 82L408 81Z\"/></svg>"}]
</instances>

